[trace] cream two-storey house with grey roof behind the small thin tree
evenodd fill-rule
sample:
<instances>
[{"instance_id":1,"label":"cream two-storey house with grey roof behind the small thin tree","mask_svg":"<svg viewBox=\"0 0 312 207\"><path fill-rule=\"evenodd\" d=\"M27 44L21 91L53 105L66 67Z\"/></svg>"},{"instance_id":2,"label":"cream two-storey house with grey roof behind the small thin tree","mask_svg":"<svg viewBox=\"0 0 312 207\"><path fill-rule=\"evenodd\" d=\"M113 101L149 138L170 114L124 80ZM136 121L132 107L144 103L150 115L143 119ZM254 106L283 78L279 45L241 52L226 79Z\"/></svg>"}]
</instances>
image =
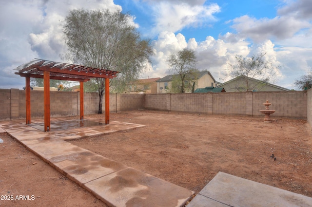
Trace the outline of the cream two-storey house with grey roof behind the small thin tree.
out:
<instances>
[{"instance_id":1,"label":"cream two-storey house with grey roof behind the small thin tree","mask_svg":"<svg viewBox=\"0 0 312 207\"><path fill-rule=\"evenodd\" d=\"M169 93L171 89L172 79L177 75L167 75L157 80L157 94ZM194 76L194 75L192 75ZM215 78L209 71L200 71L192 80L195 82L195 90L197 88L205 88L207 86L216 87L221 83L215 81ZM190 91L189 91L190 92Z\"/></svg>"}]
</instances>

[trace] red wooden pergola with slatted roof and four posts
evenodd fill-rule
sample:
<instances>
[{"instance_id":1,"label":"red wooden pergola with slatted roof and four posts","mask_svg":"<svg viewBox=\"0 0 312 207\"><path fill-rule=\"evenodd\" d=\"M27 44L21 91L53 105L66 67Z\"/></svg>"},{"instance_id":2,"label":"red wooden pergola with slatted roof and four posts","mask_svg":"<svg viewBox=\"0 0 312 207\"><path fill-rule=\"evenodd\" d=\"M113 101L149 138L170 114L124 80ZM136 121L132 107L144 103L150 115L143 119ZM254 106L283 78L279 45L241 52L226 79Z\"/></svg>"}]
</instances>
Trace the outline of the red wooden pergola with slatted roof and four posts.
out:
<instances>
[{"instance_id":1,"label":"red wooden pergola with slatted roof and four posts","mask_svg":"<svg viewBox=\"0 0 312 207\"><path fill-rule=\"evenodd\" d=\"M105 78L105 124L109 124L109 79L117 75L117 71L85 67L68 63L60 63L43 59L33 59L14 70L15 74L26 78L26 124L31 123L30 113L30 78L43 78L44 97L44 131L50 128L50 79L80 82L80 120L83 119L83 83L90 78Z\"/></svg>"}]
</instances>

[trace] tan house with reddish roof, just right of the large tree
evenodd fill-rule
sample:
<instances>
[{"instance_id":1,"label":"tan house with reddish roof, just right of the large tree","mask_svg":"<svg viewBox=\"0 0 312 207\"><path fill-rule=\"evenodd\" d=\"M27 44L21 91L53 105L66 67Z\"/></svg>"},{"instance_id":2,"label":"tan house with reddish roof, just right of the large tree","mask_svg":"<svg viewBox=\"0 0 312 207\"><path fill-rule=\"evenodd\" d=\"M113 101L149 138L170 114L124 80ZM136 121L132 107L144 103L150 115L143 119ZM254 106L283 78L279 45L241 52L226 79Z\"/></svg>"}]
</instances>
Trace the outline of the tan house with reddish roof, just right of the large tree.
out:
<instances>
[{"instance_id":1,"label":"tan house with reddish roof, just right of the large tree","mask_svg":"<svg viewBox=\"0 0 312 207\"><path fill-rule=\"evenodd\" d=\"M160 77L139 79L135 83L129 85L128 93L137 94L156 94L157 93L157 83Z\"/></svg>"}]
</instances>

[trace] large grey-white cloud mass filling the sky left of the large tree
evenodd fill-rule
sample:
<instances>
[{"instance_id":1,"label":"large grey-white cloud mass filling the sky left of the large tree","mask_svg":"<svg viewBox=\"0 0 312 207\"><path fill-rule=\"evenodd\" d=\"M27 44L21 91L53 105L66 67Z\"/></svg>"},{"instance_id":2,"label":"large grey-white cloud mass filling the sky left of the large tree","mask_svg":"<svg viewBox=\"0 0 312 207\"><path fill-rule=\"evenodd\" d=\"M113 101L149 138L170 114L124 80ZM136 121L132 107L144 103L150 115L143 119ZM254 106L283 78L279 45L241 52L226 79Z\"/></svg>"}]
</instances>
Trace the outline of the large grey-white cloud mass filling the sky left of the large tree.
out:
<instances>
[{"instance_id":1,"label":"large grey-white cloud mass filling the sky left of the large tree","mask_svg":"<svg viewBox=\"0 0 312 207\"><path fill-rule=\"evenodd\" d=\"M59 55L66 50L61 21L79 8L121 10L113 0L1 1L0 88L22 88L25 80L13 69L33 58L61 61Z\"/></svg>"}]
</instances>

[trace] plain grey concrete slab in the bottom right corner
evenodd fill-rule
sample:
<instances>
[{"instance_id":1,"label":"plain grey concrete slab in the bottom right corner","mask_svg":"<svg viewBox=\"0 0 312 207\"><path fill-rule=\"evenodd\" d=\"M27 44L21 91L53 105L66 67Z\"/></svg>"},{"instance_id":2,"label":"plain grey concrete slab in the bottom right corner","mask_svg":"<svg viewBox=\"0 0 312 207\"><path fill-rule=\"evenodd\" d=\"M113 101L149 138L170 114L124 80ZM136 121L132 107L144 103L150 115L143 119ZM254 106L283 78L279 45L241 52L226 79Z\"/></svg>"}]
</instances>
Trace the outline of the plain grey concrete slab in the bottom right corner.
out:
<instances>
[{"instance_id":1,"label":"plain grey concrete slab in the bottom right corner","mask_svg":"<svg viewBox=\"0 0 312 207\"><path fill-rule=\"evenodd\" d=\"M220 207L312 207L311 197L224 172L218 172L198 195L187 207L201 207L212 200L220 203Z\"/></svg>"}]
</instances>

